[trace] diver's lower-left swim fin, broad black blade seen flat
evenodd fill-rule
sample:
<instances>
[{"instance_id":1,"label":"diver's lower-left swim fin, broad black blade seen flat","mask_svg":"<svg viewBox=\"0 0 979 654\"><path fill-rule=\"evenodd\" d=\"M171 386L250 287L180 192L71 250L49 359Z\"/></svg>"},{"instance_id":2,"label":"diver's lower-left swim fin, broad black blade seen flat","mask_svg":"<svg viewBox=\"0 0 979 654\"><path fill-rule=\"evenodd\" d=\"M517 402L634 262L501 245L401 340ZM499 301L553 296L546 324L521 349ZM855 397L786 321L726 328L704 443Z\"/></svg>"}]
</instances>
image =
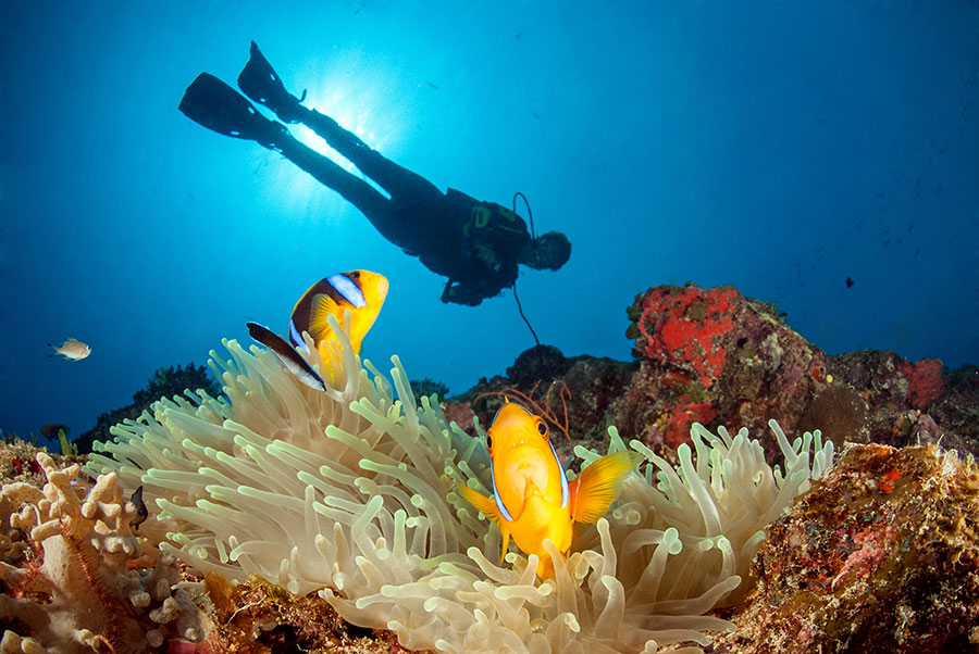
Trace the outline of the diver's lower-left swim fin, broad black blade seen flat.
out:
<instances>
[{"instance_id":1,"label":"diver's lower-left swim fin, broad black blade seen flat","mask_svg":"<svg viewBox=\"0 0 979 654\"><path fill-rule=\"evenodd\" d=\"M258 141L267 148L288 138L285 126L261 115L241 93L209 73L197 76L181 99L181 111L208 129L239 139Z\"/></svg>"}]
</instances>

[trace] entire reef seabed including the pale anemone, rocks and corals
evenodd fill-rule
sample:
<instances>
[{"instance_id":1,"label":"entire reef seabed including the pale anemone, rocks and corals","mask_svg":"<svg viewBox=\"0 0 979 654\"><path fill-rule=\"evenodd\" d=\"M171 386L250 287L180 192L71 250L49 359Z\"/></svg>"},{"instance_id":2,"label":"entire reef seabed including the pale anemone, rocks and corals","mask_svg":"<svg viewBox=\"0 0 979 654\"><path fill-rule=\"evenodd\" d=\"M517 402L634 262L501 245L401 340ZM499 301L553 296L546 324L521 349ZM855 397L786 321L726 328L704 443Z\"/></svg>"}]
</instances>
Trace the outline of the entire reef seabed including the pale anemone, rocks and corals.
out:
<instances>
[{"instance_id":1,"label":"entire reef seabed including the pale anemone, rocks and corals","mask_svg":"<svg viewBox=\"0 0 979 654\"><path fill-rule=\"evenodd\" d=\"M4 444L0 651L979 651L979 475L905 447L979 451L979 367L827 356L726 287L649 289L629 315L635 362L536 347L441 405L343 338L310 357L340 370L325 393L227 341L225 397L184 390L212 383L201 367L158 370L91 490L57 469L74 457ZM504 393L566 424L572 475L606 448L646 460L552 581L516 551L496 565L498 532L456 491L486 492L480 420ZM778 519L844 442L905 449L850 445ZM207 573L206 640L174 557Z\"/></svg>"}]
</instances>

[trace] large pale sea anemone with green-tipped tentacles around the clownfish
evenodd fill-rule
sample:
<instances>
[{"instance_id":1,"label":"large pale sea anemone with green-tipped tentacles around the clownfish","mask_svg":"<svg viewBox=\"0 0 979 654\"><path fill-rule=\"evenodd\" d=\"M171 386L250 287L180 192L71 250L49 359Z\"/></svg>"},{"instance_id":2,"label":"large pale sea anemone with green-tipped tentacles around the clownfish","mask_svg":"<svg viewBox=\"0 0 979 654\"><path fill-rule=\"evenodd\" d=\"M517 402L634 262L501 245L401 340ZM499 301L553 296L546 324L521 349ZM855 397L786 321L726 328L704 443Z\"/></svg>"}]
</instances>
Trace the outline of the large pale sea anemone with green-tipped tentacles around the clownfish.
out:
<instances>
[{"instance_id":1,"label":"large pale sea anemone with green-tipped tentacles around the clownfish","mask_svg":"<svg viewBox=\"0 0 979 654\"><path fill-rule=\"evenodd\" d=\"M326 392L298 382L268 351L225 341L232 359L219 363L212 352L211 362L225 398L161 400L116 427L89 469L142 485L170 525L162 548L193 567L319 590L347 620L392 629L408 649L704 644L704 631L729 628L704 614L740 592L764 527L832 456L818 436L790 447L779 432L782 476L746 433L698 427L696 462L681 451L674 470L633 441L649 462L645 478L628 481L621 504L567 562L554 552L555 579L541 581L534 556L511 551L494 563L499 533L456 492L458 483L487 491L482 442L446 425L427 398L417 405L396 357L392 385L340 341ZM611 449L624 447L611 436Z\"/></svg>"}]
</instances>

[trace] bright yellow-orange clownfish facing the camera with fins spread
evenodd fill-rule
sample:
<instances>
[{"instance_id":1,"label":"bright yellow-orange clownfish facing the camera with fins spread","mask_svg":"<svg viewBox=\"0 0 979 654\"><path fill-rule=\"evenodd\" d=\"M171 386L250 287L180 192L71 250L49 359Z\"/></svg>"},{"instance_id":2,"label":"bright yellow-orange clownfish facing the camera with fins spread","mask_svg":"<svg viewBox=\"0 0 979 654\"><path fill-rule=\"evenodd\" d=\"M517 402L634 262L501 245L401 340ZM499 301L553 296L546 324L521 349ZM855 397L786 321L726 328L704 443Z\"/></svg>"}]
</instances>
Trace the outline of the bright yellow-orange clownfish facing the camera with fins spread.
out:
<instances>
[{"instance_id":1,"label":"bright yellow-orange clownfish facing the camera with fins spread","mask_svg":"<svg viewBox=\"0 0 979 654\"><path fill-rule=\"evenodd\" d=\"M575 523L596 523L619 493L622 479L641 461L636 452L603 456L569 482L548 437L547 423L517 403L504 404L486 437L493 496L460 487L462 496L503 534L500 562L510 537L524 554L536 554L537 576L554 577L544 549L550 539L567 555Z\"/></svg>"}]
</instances>

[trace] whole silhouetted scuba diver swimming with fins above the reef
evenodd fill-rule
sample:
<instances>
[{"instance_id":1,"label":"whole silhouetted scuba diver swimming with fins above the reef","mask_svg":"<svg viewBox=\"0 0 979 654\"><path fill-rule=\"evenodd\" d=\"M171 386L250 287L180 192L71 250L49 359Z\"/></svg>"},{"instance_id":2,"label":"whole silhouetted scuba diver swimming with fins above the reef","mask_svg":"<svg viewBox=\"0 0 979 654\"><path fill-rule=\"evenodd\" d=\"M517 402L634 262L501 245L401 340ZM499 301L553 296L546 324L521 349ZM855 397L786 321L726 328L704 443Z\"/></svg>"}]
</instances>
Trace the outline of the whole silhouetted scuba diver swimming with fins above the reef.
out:
<instances>
[{"instance_id":1,"label":"whole silhouetted scuba diver swimming with fins above the reef","mask_svg":"<svg viewBox=\"0 0 979 654\"><path fill-rule=\"evenodd\" d=\"M330 116L303 106L306 91L301 98L289 95L255 41L238 86L283 123L302 123L311 128L391 199L298 141L285 125L265 118L213 75L201 73L187 87L179 109L213 131L281 152L338 192L387 240L418 256L432 272L448 277L443 302L475 306L513 287L518 264L556 271L571 255L571 243L563 234L534 236L516 212L500 204L482 202L451 188L443 193L424 177L382 156Z\"/></svg>"}]
</instances>

